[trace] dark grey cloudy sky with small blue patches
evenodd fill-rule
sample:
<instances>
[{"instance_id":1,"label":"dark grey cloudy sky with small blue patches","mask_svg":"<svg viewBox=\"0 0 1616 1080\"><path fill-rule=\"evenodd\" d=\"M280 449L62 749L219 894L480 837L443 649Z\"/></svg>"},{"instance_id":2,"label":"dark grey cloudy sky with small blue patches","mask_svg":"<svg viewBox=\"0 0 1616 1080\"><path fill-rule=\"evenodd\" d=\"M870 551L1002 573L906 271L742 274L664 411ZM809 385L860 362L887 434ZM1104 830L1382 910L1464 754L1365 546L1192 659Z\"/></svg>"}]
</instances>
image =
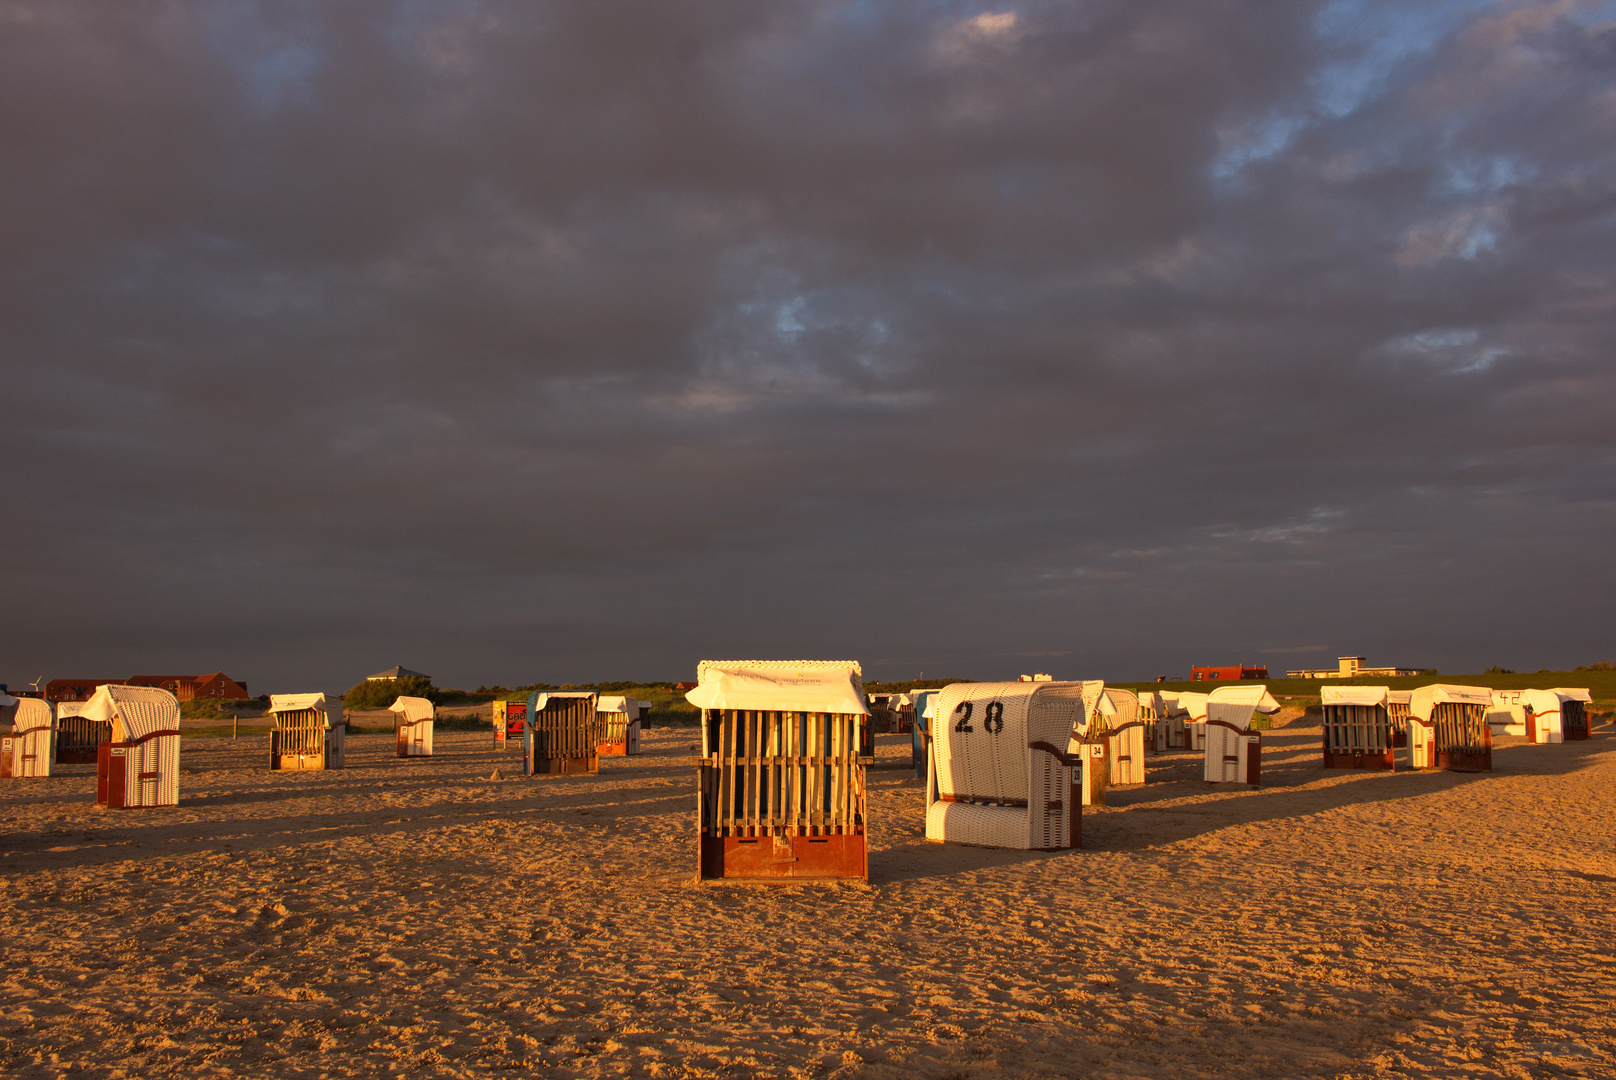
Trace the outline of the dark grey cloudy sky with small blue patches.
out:
<instances>
[{"instance_id":1,"label":"dark grey cloudy sky with small blue patches","mask_svg":"<svg viewBox=\"0 0 1616 1080\"><path fill-rule=\"evenodd\" d=\"M1616 3L0 0L0 681L1616 656Z\"/></svg>"}]
</instances>

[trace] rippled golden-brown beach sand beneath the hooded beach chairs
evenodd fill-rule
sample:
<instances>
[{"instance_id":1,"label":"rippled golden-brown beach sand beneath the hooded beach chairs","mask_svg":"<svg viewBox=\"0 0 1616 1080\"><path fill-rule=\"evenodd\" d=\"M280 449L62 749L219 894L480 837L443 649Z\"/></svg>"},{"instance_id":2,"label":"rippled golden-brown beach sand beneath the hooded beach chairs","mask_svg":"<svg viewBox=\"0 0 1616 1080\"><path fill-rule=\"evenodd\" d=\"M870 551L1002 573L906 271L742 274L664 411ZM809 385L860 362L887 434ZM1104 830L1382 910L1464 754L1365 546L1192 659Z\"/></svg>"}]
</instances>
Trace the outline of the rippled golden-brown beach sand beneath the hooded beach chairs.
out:
<instances>
[{"instance_id":1,"label":"rippled golden-brown beach sand beneath the hooded beach chairs","mask_svg":"<svg viewBox=\"0 0 1616 1080\"><path fill-rule=\"evenodd\" d=\"M543 779L483 732L187 739L171 810L0 781L0 1070L1616 1075L1610 729L1351 774L1302 723L1259 791L1152 755L1057 854L928 844L871 770L868 886L695 884L692 729Z\"/></svg>"}]
</instances>

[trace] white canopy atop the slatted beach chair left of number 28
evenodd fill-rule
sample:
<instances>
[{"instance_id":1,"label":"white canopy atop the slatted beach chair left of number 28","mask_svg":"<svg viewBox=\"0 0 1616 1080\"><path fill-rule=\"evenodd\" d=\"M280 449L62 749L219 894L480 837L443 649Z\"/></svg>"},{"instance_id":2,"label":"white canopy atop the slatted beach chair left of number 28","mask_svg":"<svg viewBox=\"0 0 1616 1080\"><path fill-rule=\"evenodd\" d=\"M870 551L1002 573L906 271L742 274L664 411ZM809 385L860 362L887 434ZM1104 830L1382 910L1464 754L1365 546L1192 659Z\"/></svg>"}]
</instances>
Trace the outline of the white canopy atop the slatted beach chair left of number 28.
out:
<instances>
[{"instance_id":1,"label":"white canopy atop the slatted beach chair left of number 28","mask_svg":"<svg viewBox=\"0 0 1616 1080\"><path fill-rule=\"evenodd\" d=\"M685 700L696 708L868 716L861 676L852 660L703 660Z\"/></svg>"}]
</instances>

